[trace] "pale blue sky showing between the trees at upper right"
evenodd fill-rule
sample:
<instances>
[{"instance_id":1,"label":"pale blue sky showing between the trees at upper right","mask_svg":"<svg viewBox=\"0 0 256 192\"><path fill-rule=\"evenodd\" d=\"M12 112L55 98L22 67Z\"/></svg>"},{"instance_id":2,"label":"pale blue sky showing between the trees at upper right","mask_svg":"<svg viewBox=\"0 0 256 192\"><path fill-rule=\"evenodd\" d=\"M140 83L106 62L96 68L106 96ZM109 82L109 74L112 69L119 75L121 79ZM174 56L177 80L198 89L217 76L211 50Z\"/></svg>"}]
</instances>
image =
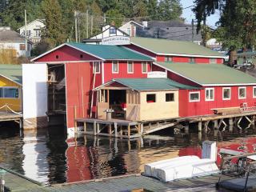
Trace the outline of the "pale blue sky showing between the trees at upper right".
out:
<instances>
[{"instance_id":1,"label":"pale blue sky showing between the trees at upper right","mask_svg":"<svg viewBox=\"0 0 256 192\"><path fill-rule=\"evenodd\" d=\"M194 0L181 0L181 3L182 3L182 7L185 8L187 6L192 6L194 5ZM186 23L191 23L191 20L192 18L194 18L194 12L192 11L192 8L193 7L190 7L188 9L185 9L183 10L183 13L182 13L182 18L185 18L185 22ZM215 26L215 22L218 22L218 19L219 19L219 12L216 11L215 14L211 15L210 17L208 17L206 19L206 24L208 26L211 26L213 28L216 28Z\"/></svg>"}]
</instances>

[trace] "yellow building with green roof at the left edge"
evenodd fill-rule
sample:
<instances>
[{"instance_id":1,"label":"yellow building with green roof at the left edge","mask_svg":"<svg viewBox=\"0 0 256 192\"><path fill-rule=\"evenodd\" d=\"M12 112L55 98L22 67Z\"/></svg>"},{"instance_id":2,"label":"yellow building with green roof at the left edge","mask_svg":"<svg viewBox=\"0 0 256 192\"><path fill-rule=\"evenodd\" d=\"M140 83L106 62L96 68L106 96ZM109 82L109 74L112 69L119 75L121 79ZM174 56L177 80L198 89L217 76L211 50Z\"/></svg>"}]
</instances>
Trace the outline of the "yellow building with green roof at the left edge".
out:
<instances>
[{"instance_id":1,"label":"yellow building with green roof at the left edge","mask_svg":"<svg viewBox=\"0 0 256 192\"><path fill-rule=\"evenodd\" d=\"M22 111L22 66L0 65L0 111Z\"/></svg>"}]
</instances>

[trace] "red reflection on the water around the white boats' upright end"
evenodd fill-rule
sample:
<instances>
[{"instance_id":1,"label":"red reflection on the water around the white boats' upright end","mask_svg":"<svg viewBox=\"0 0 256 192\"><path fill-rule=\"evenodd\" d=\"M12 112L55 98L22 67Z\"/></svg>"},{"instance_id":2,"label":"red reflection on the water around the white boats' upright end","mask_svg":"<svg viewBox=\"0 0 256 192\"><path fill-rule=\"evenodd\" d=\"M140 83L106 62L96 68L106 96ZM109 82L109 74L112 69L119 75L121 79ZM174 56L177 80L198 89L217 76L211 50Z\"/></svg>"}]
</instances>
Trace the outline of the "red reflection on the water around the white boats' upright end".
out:
<instances>
[{"instance_id":1,"label":"red reflection on the water around the white boats' upright end","mask_svg":"<svg viewBox=\"0 0 256 192\"><path fill-rule=\"evenodd\" d=\"M221 156L219 154L220 149L227 150L236 150L244 153L254 153L256 152L256 138L244 138L240 140L241 142L223 142L218 143L218 156L217 156L217 165L221 163ZM188 146L179 150L178 156L186 155L196 155L199 158L202 157L202 148L200 146Z\"/></svg>"}]
</instances>

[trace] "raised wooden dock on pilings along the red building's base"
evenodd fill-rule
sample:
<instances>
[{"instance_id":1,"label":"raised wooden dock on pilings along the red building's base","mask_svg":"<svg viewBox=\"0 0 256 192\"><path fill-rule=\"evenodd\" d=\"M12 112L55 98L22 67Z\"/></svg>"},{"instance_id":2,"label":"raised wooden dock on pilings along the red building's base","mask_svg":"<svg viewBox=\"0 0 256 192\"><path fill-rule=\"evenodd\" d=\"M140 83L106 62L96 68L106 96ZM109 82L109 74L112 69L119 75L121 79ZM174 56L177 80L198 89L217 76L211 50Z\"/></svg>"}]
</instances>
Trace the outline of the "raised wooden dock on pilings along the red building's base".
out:
<instances>
[{"instance_id":1,"label":"raised wooden dock on pilings along the red building's base","mask_svg":"<svg viewBox=\"0 0 256 192\"><path fill-rule=\"evenodd\" d=\"M190 130L190 124L198 124L198 132L201 133L214 129L226 129L229 126L233 130L233 126L242 129L240 123L243 119L249 122L249 126L255 124L256 108L251 109L237 109L230 110L216 110L218 114L193 116L186 118L170 118L158 119L152 121L131 122L122 119L102 120L97 118L77 118L74 119L76 131L78 127L82 134L92 134L94 136L107 136L116 138L138 138L142 135L152 134L159 130L165 129L184 129L186 133Z\"/></svg>"}]
</instances>

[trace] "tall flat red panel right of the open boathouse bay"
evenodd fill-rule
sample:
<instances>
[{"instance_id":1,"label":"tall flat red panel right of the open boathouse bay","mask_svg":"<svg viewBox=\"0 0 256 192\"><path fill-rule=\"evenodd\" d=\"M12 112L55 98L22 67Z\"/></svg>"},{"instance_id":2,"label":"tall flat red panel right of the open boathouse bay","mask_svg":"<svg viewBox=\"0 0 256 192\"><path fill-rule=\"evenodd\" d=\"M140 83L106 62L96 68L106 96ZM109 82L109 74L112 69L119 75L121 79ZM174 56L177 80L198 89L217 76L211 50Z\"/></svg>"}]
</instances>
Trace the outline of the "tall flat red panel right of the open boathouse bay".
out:
<instances>
[{"instance_id":1,"label":"tall flat red panel right of the open boathouse bay","mask_svg":"<svg viewBox=\"0 0 256 192\"><path fill-rule=\"evenodd\" d=\"M67 127L74 127L74 106L77 118L87 117L90 97L90 63L66 63L66 119ZM82 88L83 87L83 88ZM83 116L84 114L84 116Z\"/></svg>"}]
</instances>

